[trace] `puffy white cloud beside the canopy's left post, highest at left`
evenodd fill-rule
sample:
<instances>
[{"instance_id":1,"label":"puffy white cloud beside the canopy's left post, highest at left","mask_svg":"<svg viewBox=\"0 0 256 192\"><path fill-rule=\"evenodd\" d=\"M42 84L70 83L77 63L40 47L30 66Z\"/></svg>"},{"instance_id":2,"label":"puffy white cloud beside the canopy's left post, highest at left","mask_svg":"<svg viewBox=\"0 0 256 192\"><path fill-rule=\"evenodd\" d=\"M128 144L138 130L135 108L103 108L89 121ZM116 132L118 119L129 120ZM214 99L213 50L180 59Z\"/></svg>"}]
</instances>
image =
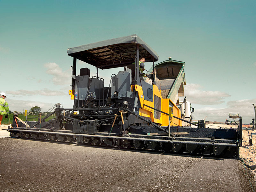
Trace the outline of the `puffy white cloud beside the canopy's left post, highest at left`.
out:
<instances>
[{"instance_id":1,"label":"puffy white cloud beside the canopy's left post, highest at left","mask_svg":"<svg viewBox=\"0 0 256 192\"><path fill-rule=\"evenodd\" d=\"M57 85L64 85L71 83L71 68L63 71L56 63L45 63L44 67L47 69L46 73L52 75L52 82Z\"/></svg>"}]
</instances>

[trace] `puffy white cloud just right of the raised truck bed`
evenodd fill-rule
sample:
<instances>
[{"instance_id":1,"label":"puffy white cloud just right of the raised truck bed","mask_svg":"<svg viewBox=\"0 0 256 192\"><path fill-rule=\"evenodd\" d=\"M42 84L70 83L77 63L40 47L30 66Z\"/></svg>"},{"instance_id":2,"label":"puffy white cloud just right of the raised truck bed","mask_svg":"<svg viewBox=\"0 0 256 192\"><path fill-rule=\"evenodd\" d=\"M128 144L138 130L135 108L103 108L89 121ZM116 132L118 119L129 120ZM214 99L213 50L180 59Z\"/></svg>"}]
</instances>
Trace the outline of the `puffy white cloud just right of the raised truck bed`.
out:
<instances>
[{"instance_id":1,"label":"puffy white cloud just right of the raised truck bed","mask_svg":"<svg viewBox=\"0 0 256 192\"><path fill-rule=\"evenodd\" d=\"M203 91L198 84L187 84L184 86L184 92L189 102L200 105L217 105L224 103L225 97L229 94L220 91Z\"/></svg>"}]
</instances>

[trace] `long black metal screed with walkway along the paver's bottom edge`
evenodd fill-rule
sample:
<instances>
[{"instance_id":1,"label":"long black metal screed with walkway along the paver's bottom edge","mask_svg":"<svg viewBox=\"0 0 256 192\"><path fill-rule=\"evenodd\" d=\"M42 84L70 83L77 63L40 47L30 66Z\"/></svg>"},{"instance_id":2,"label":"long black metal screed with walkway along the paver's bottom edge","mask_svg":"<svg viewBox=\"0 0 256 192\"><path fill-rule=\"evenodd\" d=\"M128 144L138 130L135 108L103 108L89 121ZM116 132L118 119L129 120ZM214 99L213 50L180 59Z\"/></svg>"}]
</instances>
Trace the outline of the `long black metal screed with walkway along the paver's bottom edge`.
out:
<instances>
[{"instance_id":1,"label":"long black metal screed with walkway along the paver's bottom edge","mask_svg":"<svg viewBox=\"0 0 256 192\"><path fill-rule=\"evenodd\" d=\"M129 135L118 136L116 134L75 134L65 131L33 131L24 129L6 129L12 138L34 139L44 141L61 141L77 144L86 144L104 147L116 147L124 149L143 149L162 151L167 153L179 153L199 156L239 157L239 150L235 140L211 140L202 138L175 138L164 136Z\"/></svg>"}]
</instances>

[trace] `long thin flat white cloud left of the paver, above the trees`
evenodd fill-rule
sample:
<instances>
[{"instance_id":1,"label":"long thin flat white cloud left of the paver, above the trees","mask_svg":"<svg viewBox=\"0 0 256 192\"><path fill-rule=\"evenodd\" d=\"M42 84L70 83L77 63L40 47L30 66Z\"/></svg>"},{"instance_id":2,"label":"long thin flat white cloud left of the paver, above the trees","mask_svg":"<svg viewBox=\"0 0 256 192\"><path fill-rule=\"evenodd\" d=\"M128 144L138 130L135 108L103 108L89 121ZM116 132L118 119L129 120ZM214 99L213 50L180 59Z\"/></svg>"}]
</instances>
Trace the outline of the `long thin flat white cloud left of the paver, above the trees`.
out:
<instances>
[{"instance_id":1,"label":"long thin flat white cloud left of the paver, above the trees","mask_svg":"<svg viewBox=\"0 0 256 192\"><path fill-rule=\"evenodd\" d=\"M7 93L12 95L23 95L23 96L26 96L26 95L59 96L59 95L67 94L66 92L63 92L63 91L52 91L49 89L42 89L42 90L35 90L35 91L20 89L18 91L7 91Z\"/></svg>"}]
</instances>

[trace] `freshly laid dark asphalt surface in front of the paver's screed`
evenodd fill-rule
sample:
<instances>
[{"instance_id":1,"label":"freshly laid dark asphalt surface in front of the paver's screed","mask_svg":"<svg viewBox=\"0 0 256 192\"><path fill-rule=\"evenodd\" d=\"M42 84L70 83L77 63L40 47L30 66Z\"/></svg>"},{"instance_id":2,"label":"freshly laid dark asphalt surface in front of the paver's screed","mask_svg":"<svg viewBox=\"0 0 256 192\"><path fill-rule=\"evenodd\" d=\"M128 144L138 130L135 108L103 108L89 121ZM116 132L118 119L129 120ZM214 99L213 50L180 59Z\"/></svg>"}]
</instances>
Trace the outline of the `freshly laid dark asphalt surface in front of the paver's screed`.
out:
<instances>
[{"instance_id":1,"label":"freshly laid dark asphalt surface in front of the paver's screed","mask_svg":"<svg viewBox=\"0 0 256 192\"><path fill-rule=\"evenodd\" d=\"M235 159L0 138L0 191L248 192L252 188Z\"/></svg>"}]
</instances>

